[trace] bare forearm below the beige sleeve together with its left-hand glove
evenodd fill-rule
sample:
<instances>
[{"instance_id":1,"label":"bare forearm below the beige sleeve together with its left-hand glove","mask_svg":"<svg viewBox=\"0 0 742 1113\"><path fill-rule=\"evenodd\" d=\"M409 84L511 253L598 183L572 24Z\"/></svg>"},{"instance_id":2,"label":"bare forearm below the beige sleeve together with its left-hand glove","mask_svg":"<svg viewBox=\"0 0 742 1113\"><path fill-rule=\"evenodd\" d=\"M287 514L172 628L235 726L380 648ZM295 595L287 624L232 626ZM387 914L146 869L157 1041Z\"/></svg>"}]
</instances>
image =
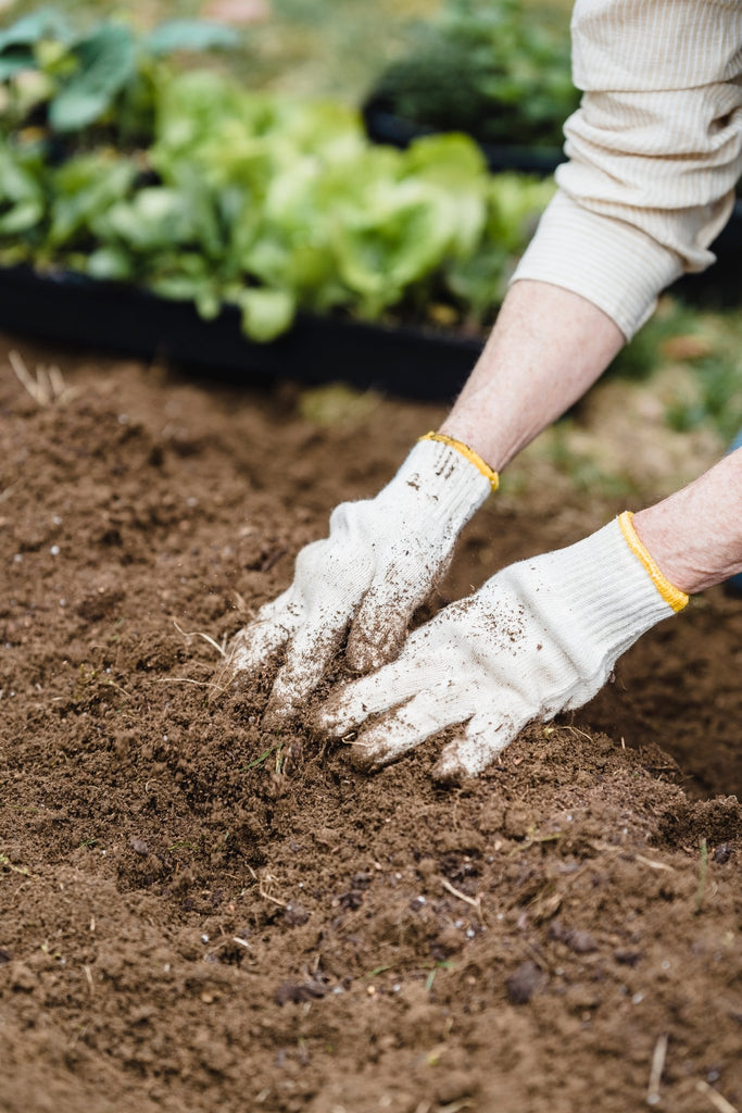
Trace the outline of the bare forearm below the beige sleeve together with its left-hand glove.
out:
<instances>
[{"instance_id":1,"label":"bare forearm below the beige sleeve together with its left-hand glove","mask_svg":"<svg viewBox=\"0 0 742 1113\"><path fill-rule=\"evenodd\" d=\"M299 553L294 581L233 639L220 684L273 680L266 722L287 720L347 636L346 661L378 668L451 561L457 534L503 466L597 378L622 335L580 295L517 283L441 429L458 449L418 444L376 499L338 506L329 538ZM474 450L478 465L461 450Z\"/></svg>"}]
</instances>

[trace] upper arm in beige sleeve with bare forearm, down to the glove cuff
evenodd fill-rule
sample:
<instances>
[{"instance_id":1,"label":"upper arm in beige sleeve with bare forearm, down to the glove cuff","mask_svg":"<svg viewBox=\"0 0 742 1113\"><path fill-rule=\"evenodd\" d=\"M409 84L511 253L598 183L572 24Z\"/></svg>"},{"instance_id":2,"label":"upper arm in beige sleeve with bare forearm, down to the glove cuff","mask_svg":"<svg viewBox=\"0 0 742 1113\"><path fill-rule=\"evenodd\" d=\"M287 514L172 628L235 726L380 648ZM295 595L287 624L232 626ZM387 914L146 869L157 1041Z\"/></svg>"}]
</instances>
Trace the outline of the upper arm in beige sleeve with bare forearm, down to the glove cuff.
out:
<instances>
[{"instance_id":1,"label":"upper arm in beige sleeve with bare forearm, down to the glove cuff","mask_svg":"<svg viewBox=\"0 0 742 1113\"><path fill-rule=\"evenodd\" d=\"M577 0L570 160L442 429L501 470L602 374L683 270L713 262L742 174L742 14ZM670 47L670 49L669 49Z\"/></svg>"}]
</instances>

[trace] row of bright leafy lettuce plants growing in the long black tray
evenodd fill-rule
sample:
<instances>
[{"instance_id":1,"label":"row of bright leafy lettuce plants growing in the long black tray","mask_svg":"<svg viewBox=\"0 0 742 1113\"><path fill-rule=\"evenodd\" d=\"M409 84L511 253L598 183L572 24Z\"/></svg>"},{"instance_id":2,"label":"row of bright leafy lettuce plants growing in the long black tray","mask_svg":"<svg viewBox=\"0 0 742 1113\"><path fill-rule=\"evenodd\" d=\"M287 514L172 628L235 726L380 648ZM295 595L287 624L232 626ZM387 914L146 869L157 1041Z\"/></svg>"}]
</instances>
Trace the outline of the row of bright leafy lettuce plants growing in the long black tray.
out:
<instances>
[{"instance_id":1,"label":"row of bright leafy lettuce plants growing in the long black tray","mask_svg":"<svg viewBox=\"0 0 742 1113\"><path fill-rule=\"evenodd\" d=\"M166 24L144 53L111 23L36 43L46 126L16 118L0 138L0 263L136 283L205 317L233 304L256 341L297 309L419 318L445 303L467 324L492 313L551 183L493 177L461 135L376 147L342 105L154 57L215 41L199 26Z\"/></svg>"}]
</instances>

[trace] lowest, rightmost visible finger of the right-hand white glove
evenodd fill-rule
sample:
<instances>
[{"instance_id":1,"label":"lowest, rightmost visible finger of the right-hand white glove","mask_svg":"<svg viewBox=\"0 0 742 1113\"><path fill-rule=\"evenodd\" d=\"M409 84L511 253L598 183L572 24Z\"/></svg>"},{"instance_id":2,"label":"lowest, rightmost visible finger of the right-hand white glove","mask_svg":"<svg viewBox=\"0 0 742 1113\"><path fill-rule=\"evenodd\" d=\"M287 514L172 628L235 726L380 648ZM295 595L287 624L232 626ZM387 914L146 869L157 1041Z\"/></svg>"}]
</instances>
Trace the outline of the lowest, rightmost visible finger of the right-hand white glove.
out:
<instances>
[{"instance_id":1,"label":"lowest, rightmost visible finger of the right-hand white glove","mask_svg":"<svg viewBox=\"0 0 742 1113\"><path fill-rule=\"evenodd\" d=\"M435 780L458 785L476 777L495 760L516 735L533 719L533 709L522 700L498 702L489 713L475 715L458 738L448 742L433 770Z\"/></svg>"}]
</instances>

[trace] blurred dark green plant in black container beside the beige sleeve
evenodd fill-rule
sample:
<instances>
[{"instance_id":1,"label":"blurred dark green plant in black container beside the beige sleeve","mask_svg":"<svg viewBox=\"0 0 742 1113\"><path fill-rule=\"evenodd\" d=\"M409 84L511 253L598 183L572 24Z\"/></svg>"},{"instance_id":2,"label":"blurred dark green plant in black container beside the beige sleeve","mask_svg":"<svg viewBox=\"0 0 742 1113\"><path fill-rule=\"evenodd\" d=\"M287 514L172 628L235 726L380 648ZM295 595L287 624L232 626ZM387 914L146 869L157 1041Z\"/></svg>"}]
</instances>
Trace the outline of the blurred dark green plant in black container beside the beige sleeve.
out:
<instances>
[{"instance_id":1,"label":"blurred dark green plant in black container beside the beige sleeve","mask_svg":"<svg viewBox=\"0 0 742 1113\"><path fill-rule=\"evenodd\" d=\"M448 0L417 23L406 55L379 77L372 97L438 130L516 146L562 145L578 104L566 28L518 0Z\"/></svg>"}]
</instances>

